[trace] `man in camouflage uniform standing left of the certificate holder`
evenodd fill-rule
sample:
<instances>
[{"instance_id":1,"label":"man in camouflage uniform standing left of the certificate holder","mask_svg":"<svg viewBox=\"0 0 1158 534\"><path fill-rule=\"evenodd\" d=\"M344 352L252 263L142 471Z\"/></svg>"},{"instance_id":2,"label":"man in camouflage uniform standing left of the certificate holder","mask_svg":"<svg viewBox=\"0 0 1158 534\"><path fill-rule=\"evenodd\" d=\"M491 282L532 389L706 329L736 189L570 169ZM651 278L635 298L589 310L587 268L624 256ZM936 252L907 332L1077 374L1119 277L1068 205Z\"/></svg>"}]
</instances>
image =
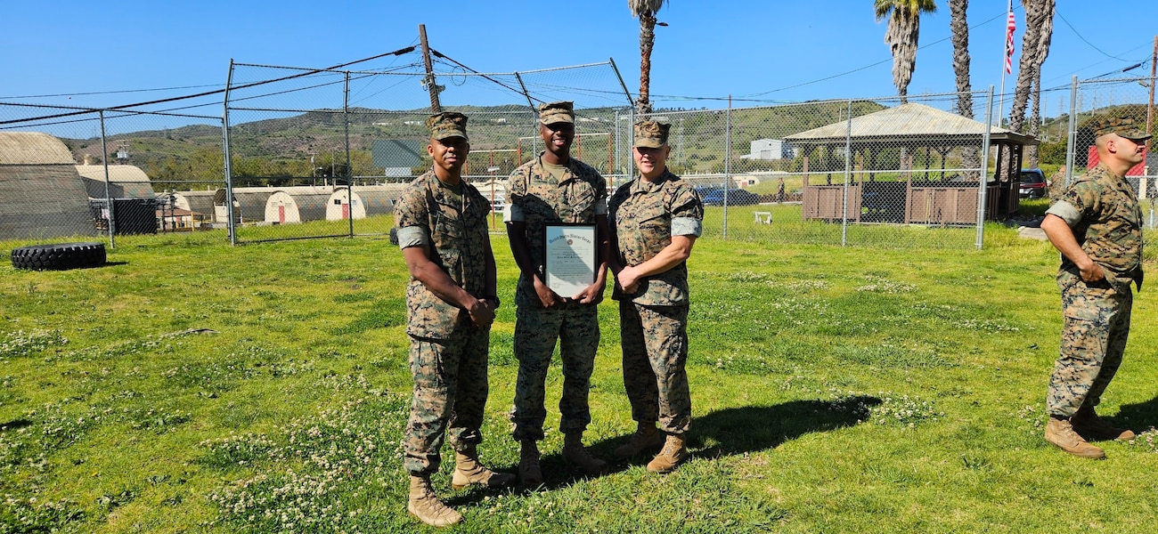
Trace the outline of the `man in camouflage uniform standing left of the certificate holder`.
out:
<instances>
[{"instance_id":1,"label":"man in camouflage uniform standing left of the certificate holder","mask_svg":"<svg viewBox=\"0 0 1158 534\"><path fill-rule=\"evenodd\" d=\"M446 112L427 120L434 166L395 203L398 247L410 270L406 334L415 387L403 438L411 475L408 510L434 526L462 520L430 487L444 435L455 450L452 485L503 485L513 479L482 467L486 361L494 320L496 270L488 235L490 202L461 179L470 151L467 117Z\"/></svg>"}]
</instances>

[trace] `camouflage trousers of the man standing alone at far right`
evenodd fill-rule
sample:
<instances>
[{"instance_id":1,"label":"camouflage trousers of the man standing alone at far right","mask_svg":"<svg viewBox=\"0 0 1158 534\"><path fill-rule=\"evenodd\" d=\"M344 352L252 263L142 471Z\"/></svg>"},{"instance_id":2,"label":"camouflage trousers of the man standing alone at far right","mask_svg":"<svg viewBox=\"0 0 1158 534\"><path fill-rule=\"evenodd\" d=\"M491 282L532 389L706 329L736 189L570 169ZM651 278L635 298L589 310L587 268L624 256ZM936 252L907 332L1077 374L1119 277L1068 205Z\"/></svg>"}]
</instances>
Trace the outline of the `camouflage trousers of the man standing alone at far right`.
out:
<instances>
[{"instance_id":1,"label":"camouflage trousers of the man standing alone at far right","mask_svg":"<svg viewBox=\"0 0 1158 534\"><path fill-rule=\"evenodd\" d=\"M1117 372L1130 333L1134 294L1124 280L1086 284L1062 272L1062 346L1049 377L1046 410L1070 417L1082 407L1093 408Z\"/></svg>"}]
</instances>

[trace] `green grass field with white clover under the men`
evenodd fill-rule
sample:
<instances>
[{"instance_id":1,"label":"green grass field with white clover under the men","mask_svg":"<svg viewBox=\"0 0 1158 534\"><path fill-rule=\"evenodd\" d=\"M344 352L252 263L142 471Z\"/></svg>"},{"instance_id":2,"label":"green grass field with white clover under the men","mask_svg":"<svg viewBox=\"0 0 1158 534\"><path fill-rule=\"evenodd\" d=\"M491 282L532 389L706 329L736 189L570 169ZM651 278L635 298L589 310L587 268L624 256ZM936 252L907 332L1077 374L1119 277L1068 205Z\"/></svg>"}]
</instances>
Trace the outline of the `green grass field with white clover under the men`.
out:
<instances>
[{"instance_id":1,"label":"green grass field with white clover under the men","mask_svg":"<svg viewBox=\"0 0 1158 534\"><path fill-rule=\"evenodd\" d=\"M0 533L433 531L405 512L396 247L117 244L94 269L0 258ZM481 452L510 472L516 269L505 237L493 245L504 306ZM559 455L556 365L545 488L453 491L444 463L435 488L467 518L450 532L1144 532L1158 433L1106 444L1105 461L1041 439L1056 262L1048 243L1002 228L983 251L709 235L689 265L691 461L579 476ZM1158 421L1145 289L1100 408L1137 431ZM600 318L586 440L609 457L635 425L614 303Z\"/></svg>"}]
</instances>

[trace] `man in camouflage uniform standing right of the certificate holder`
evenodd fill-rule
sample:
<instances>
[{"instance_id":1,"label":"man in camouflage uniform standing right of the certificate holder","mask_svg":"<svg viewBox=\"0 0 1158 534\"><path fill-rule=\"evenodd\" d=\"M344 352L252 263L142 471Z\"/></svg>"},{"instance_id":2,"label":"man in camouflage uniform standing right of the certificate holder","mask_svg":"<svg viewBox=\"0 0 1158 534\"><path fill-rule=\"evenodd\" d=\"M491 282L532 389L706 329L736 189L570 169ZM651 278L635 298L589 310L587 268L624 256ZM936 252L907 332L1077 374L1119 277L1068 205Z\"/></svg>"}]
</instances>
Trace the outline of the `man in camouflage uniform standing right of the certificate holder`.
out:
<instances>
[{"instance_id":1,"label":"man in camouflage uniform standing right of the certificate holder","mask_svg":"<svg viewBox=\"0 0 1158 534\"><path fill-rule=\"evenodd\" d=\"M620 301L623 385L638 429L616 450L630 457L664 444L648 470L666 473L687 458L691 427L688 359L688 266L703 229L704 207L695 188L667 170L670 125L636 125L640 176L608 205L611 221L611 298ZM659 423L666 439L655 430Z\"/></svg>"}]
</instances>

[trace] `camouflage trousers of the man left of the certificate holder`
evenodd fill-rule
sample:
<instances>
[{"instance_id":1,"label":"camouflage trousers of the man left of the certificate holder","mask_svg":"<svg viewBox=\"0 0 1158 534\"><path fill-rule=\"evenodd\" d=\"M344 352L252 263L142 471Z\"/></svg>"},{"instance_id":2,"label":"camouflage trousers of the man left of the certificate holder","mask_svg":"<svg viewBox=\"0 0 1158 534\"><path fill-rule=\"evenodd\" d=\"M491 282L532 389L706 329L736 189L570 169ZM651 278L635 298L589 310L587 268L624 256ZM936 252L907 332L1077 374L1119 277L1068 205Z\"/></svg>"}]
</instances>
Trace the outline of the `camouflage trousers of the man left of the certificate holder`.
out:
<instances>
[{"instance_id":1,"label":"camouflage trousers of the man left of the certificate holder","mask_svg":"<svg viewBox=\"0 0 1158 534\"><path fill-rule=\"evenodd\" d=\"M483 440L490 331L461 328L448 339L410 338L415 380L410 420L402 438L403 466L412 474L438 472L444 435L462 451Z\"/></svg>"}]
</instances>

